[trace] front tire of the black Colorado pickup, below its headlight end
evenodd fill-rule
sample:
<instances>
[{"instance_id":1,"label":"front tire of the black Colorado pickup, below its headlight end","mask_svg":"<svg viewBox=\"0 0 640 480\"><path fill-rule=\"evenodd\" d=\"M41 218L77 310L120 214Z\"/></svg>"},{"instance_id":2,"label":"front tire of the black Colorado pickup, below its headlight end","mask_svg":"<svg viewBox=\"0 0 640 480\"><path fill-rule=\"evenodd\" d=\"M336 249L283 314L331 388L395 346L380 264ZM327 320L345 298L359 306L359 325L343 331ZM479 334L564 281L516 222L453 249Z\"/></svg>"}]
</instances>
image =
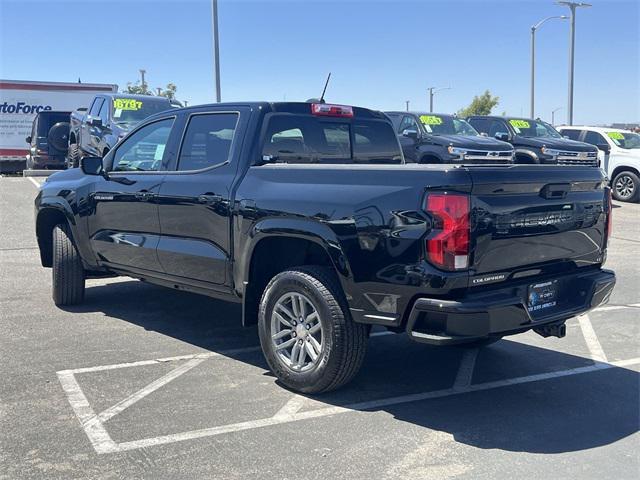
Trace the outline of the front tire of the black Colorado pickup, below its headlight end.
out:
<instances>
[{"instance_id":1,"label":"front tire of the black Colorado pickup, below its headlight end","mask_svg":"<svg viewBox=\"0 0 640 480\"><path fill-rule=\"evenodd\" d=\"M53 302L77 305L84 300L84 268L73 244L69 226L53 228Z\"/></svg>"}]
</instances>

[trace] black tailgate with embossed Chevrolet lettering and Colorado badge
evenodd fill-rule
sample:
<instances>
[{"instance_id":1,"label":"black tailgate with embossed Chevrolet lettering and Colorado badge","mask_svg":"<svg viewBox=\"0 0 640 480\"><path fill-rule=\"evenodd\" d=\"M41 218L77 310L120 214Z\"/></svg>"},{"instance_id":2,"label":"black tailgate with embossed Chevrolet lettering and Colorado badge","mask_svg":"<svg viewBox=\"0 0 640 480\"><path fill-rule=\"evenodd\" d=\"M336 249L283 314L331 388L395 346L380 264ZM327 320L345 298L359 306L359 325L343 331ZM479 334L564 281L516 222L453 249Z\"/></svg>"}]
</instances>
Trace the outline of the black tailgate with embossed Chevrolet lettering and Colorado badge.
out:
<instances>
[{"instance_id":1,"label":"black tailgate with embossed Chevrolet lettering and Colorado badge","mask_svg":"<svg viewBox=\"0 0 640 480\"><path fill-rule=\"evenodd\" d=\"M607 200L600 169L516 165L468 172L471 286L602 262Z\"/></svg>"}]
</instances>

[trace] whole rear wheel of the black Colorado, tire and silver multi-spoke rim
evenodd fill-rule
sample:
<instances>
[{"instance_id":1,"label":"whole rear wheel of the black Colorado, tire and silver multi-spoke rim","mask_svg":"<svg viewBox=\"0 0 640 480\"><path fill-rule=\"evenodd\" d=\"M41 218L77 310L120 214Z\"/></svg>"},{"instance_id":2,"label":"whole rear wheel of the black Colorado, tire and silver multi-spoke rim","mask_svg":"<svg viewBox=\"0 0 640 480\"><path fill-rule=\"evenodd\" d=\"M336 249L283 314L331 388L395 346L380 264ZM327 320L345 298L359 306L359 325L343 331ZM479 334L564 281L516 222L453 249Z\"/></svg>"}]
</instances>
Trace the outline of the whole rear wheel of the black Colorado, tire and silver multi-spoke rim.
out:
<instances>
[{"instance_id":1,"label":"whole rear wheel of the black Colorado, tire and silver multi-spoke rim","mask_svg":"<svg viewBox=\"0 0 640 480\"><path fill-rule=\"evenodd\" d=\"M304 393L334 390L360 369L367 326L355 323L335 274L322 267L279 273L260 301L260 344L271 371Z\"/></svg>"}]
</instances>

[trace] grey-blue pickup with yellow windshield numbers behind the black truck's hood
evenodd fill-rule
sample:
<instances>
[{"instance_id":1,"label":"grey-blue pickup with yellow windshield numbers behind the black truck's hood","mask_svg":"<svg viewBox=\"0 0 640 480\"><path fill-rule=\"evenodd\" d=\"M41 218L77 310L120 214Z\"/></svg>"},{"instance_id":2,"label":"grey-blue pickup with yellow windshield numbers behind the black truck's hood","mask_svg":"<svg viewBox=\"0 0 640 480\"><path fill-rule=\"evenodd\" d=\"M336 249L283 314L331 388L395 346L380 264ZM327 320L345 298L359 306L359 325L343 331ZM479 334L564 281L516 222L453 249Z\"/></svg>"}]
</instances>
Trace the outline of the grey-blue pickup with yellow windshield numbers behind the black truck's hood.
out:
<instances>
[{"instance_id":1,"label":"grey-blue pickup with yellow windshield numbers behind the black truck's hood","mask_svg":"<svg viewBox=\"0 0 640 480\"><path fill-rule=\"evenodd\" d=\"M96 95L91 106L71 114L69 166L86 155L103 157L149 115L173 108L168 98L113 93Z\"/></svg>"}]
</instances>

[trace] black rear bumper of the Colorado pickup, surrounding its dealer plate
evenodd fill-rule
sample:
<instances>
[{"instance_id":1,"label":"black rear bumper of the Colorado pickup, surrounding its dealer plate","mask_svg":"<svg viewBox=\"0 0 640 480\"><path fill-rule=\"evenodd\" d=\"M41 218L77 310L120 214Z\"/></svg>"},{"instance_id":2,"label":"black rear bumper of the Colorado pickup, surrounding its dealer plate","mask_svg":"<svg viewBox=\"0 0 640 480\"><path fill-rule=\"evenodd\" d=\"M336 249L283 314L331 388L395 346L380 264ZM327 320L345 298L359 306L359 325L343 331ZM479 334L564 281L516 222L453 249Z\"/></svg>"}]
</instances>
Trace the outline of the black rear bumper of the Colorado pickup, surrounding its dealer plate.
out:
<instances>
[{"instance_id":1,"label":"black rear bumper of the Colorado pickup, surrounding its dealer plate","mask_svg":"<svg viewBox=\"0 0 640 480\"><path fill-rule=\"evenodd\" d=\"M558 280L558 304L530 312L527 309L529 284L545 280ZM523 281L502 289L472 293L461 300L419 298L411 309L406 329L415 341L447 345L562 324L606 303L615 282L614 272L591 270Z\"/></svg>"}]
</instances>

